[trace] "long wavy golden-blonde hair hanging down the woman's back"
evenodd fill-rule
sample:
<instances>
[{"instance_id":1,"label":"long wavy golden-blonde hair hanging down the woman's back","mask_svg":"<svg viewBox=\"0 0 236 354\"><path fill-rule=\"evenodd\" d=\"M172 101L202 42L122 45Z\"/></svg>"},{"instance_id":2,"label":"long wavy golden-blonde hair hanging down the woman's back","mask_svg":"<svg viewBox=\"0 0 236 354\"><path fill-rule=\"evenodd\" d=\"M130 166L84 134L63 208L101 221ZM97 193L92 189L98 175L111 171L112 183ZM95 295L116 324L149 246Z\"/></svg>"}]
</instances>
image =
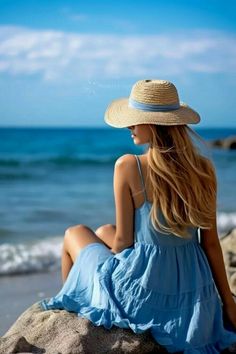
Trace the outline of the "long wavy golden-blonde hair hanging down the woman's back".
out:
<instances>
[{"instance_id":1,"label":"long wavy golden-blonde hair hanging down the woman's back","mask_svg":"<svg viewBox=\"0 0 236 354\"><path fill-rule=\"evenodd\" d=\"M180 237L189 236L188 227L211 228L216 211L215 170L192 137L203 140L187 125L150 124L150 129L147 173L153 190L153 227Z\"/></svg>"}]
</instances>

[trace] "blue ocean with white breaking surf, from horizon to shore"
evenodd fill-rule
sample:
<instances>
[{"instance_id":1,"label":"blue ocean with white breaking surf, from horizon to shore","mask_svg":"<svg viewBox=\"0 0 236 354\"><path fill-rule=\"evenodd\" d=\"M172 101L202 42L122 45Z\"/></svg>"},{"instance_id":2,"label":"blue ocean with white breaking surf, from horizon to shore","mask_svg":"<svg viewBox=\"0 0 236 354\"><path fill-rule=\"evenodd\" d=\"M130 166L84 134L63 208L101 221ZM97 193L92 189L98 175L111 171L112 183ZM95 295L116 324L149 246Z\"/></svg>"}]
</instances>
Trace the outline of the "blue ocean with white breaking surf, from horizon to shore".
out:
<instances>
[{"instance_id":1,"label":"blue ocean with white breaking surf, from horizon to shore","mask_svg":"<svg viewBox=\"0 0 236 354\"><path fill-rule=\"evenodd\" d=\"M236 128L195 129L207 141ZM0 275L60 267L65 230L115 223L113 168L142 154L128 129L0 128ZM207 150L218 178L218 232L236 227L236 150Z\"/></svg>"}]
</instances>

